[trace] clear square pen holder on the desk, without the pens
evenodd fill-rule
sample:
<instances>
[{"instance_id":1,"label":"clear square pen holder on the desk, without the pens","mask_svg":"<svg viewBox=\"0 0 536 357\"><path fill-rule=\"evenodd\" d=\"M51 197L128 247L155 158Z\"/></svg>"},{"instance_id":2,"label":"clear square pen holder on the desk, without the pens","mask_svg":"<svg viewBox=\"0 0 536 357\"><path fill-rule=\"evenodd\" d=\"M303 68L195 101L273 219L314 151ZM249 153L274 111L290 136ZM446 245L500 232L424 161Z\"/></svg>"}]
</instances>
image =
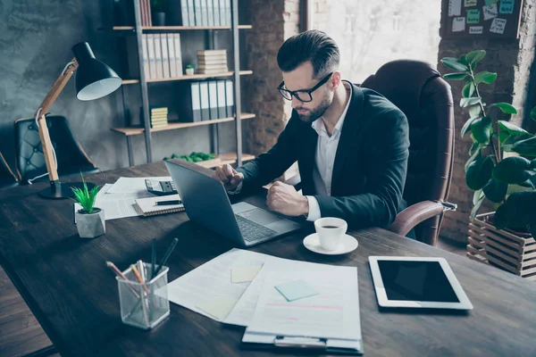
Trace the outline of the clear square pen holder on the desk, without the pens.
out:
<instances>
[{"instance_id":1,"label":"clear square pen holder on the desk, without the pens","mask_svg":"<svg viewBox=\"0 0 536 357\"><path fill-rule=\"evenodd\" d=\"M143 263L142 277L151 275L151 264ZM168 267L163 267L155 278L144 284L138 282L131 268L123 271L127 280L117 279L121 320L135 328L151 329L170 315L167 295Z\"/></svg>"}]
</instances>

